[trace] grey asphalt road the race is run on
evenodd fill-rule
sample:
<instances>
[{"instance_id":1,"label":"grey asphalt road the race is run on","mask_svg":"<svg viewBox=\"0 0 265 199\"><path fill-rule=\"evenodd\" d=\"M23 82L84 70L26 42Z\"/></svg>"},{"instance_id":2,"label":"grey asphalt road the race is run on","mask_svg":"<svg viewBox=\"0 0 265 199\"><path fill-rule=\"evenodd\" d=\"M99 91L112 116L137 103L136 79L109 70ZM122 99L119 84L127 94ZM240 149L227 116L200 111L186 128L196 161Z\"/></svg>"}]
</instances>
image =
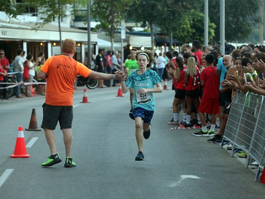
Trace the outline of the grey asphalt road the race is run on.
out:
<instances>
[{"instance_id":1,"label":"grey asphalt road the race is run on","mask_svg":"<svg viewBox=\"0 0 265 199\"><path fill-rule=\"evenodd\" d=\"M30 158L12 159L19 126L28 128L32 109L41 125L44 96L0 102L0 198L264 198L265 187L242 162L194 137L198 130L168 130L174 92L155 93L151 136L144 140L145 161L136 162L134 121L128 116L129 93L118 87L88 90L90 104L74 94L72 157L64 168L65 149L59 126L57 149L63 162L41 167L49 156L43 130L24 131ZM13 169L13 170L12 170Z\"/></svg>"}]
</instances>

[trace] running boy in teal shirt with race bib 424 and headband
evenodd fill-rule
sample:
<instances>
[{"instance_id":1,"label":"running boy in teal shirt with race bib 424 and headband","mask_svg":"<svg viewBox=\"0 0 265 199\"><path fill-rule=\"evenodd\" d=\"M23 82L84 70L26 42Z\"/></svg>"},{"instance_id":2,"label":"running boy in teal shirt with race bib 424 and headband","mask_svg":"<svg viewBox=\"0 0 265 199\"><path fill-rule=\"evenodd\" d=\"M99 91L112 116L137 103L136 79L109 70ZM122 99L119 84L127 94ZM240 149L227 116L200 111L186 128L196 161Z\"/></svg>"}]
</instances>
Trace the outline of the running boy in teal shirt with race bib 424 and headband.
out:
<instances>
[{"instance_id":1,"label":"running boy in teal shirt with race bib 424 and headband","mask_svg":"<svg viewBox=\"0 0 265 199\"><path fill-rule=\"evenodd\" d=\"M136 141L139 153L136 161L144 160L143 136L150 136L149 125L154 113L153 92L162 92L161 79L153 70L147 70L154 60L152 51L137 52L137 64L139 70L130 73L126 83L121 81L122 92L126 93L130 88L134 89L133 116L135 119ZM154 85L156 88L154 88Z\"/></svg>"}]
</instances>

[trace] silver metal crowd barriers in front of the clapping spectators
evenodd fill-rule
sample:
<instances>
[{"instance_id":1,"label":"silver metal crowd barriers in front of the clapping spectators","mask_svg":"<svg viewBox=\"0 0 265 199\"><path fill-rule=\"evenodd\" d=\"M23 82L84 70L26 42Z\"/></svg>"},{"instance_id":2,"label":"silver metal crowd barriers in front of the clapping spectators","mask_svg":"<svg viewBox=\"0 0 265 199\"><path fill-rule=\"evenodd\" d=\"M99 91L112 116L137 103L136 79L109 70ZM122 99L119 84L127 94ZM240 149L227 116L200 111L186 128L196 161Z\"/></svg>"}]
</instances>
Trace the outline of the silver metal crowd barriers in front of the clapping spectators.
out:
<instances>
[{"instance_id":1,"label":"silver metal crowd barriers in front of the clapping spectators","mask_svg":"<svg viewBox=\"0 0 265 199\"><path fill-rule=\"evenodd\" d=\"M265 164L265 121L263 118L265 118L264 96L236 91L223 140L226 139L233 144L231 156L238 150L248 154L246 168L251 161L259 164L255 182Z\"/></svg>"}]
</instances>

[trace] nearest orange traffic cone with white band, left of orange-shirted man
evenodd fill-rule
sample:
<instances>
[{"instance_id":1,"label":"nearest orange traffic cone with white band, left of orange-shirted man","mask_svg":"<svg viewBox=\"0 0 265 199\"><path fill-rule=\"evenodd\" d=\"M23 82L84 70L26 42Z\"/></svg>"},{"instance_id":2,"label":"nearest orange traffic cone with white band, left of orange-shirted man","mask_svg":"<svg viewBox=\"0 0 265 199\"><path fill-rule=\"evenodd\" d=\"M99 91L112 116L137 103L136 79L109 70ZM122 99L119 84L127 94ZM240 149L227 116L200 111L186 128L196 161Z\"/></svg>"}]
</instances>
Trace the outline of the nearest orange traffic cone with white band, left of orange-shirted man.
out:
<instances>
[{"instance_id":1,"label":"nearest orange traffic cone with white band, left of orange-shirted man","mask_svg":"<svg viewBox=\"0 0 265 199\"><path fill-rule=\"evenodd\" d=\"M14 154L10 156L11 158L29 158L30 155L26 154L25 138L22 127L18 127L18 134L16 139L16 146Z\"/></svg>"}]
</instances>

